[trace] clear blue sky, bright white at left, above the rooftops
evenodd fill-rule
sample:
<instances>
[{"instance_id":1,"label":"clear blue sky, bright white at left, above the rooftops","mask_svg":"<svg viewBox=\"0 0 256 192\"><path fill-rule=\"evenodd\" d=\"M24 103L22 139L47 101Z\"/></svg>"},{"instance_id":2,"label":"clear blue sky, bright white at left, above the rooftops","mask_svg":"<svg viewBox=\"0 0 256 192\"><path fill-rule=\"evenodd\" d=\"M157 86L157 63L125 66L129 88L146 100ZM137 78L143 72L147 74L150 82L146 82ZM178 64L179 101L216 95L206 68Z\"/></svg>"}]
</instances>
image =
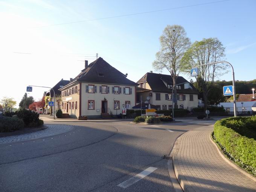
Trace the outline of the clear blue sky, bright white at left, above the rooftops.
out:
<instances>
[{"instance_id":1,"label":"clear blue sky, bright white at left, above the rooftops","mask_svg":"<svg viewBox=\"0 0 256 192\"><path fill-rule=\"evenodd\" d=\"M26 86L74 78L96 53L136 82L156 72L152 62L168 24L183 26L192 43L217 37L235 79L256 79L255 8L255 0L0 0L0 99L14 98L18 107ZM232 80L231 72L218 80ZM29 96L37 101L48 90L34 87Z\"/></svg>"}]
</instances>

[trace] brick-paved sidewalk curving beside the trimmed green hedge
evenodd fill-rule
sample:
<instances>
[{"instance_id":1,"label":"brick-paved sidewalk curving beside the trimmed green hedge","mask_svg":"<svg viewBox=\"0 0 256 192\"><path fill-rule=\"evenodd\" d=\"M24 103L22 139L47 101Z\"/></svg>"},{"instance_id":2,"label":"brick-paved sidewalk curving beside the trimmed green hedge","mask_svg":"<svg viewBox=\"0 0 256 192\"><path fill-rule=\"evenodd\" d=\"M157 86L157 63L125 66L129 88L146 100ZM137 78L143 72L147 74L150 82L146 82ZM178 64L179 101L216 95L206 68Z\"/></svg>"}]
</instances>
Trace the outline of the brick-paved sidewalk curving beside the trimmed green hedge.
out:
<instances>
[{"instance_id":1,"label":"brick-paved sidewalk curving beside the trimmed green hedge","mask_svg":"<svg viewBox=\"0 0 256 192\"><path fill-rule=\"evenodd\" d=\"M229 165L210 140L213 126L181 135L174 149L176 177L185 192L256 191L256 182Z\"/></svg>"}]
</instances>

